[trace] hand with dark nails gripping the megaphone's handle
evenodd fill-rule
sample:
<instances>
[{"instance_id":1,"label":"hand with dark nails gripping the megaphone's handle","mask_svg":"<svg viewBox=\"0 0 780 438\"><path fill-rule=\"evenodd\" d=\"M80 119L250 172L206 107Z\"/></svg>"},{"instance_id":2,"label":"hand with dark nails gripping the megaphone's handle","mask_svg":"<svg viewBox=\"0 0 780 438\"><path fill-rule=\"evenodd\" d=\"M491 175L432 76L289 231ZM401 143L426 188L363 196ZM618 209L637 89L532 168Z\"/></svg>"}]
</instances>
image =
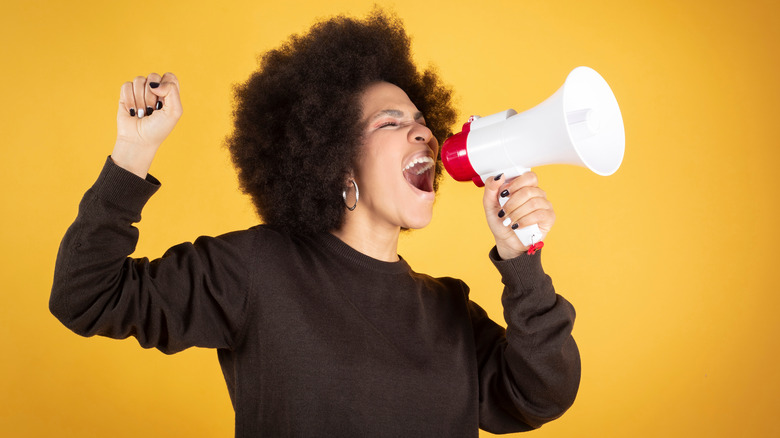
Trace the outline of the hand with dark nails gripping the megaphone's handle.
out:
<instances>
[{"instance_id":1,"label":"hand with dark nails gripping the megaphone's handle","mask_svg":"<svg viewBox=\"0 0 780 438\"><path fill-rule=\"evenodd\" d=\"M499 198L508 198L503 207ZM502 259L515 258L528 251L520 242L515 229L533 224L539 226L543 240L555 223L555 211L547 194L539 188L539 180L534 172L526 172L507 181L503 175L498 179L488 178L482 198L488 226L496 239L496 249ZM504 225L509 218L510 224Z\"/></svg>"}]
</instances>

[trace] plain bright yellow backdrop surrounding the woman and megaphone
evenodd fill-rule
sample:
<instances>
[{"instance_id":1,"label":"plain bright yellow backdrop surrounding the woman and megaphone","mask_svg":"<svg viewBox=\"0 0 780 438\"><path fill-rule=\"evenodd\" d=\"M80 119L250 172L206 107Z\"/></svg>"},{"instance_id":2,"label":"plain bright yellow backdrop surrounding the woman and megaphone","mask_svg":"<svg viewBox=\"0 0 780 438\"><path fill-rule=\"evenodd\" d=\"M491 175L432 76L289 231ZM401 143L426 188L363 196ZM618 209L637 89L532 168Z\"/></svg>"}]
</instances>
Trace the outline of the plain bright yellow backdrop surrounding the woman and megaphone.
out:
<instances>
[{"instance_id":1,"label":"plain bright yellow backdrop surrounding the woman and megaphone","mask_svg":"<svg viewBox=\"0 0 780 438\"><path fill-rule=\"evenodd\" d=\"M388 4L464 116L524 110L575 66L626 127L611 177L536 169L558 222L544 263L578 310L583 379L539 437L778 436L778 42L773 1L399 0ZM59 239L110 153L119 86L174 71L185 114L152 167L138 254L256 222L227 151L231 85L256 56L360 1L5 1L0 13L0 434L232 436L208 350L83 339L48 312ZM446 181L402 238L501 320L481 192ZM381 396L381 395L377 395ZM402 421L402 419L399 419ZM483 434L487 436L488 434Z\"/></svg>"}]
</instances>

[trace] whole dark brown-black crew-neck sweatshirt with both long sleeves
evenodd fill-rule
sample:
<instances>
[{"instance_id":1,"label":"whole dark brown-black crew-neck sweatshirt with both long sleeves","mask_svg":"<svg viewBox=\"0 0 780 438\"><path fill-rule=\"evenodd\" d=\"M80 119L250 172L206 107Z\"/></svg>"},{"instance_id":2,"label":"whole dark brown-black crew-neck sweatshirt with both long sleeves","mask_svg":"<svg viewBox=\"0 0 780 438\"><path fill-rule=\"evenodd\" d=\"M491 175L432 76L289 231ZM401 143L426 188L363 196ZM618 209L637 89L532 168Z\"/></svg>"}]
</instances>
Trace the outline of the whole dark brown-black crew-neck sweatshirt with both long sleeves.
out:
<instances>
[{"instance_id":1,"label":"whole dark brown-black crew-neck sweatshirt with both long sleeves","mask_svg":"<svg viewBox=\"0 0 780 438\"><path fill-rule=\"evenodd\" d=\"M62 240L50 309L82 336L216 348L237 437L475 437L539 427L573 403L574 309L540 253L490 253L505 331L460 280L330 234L260 225L128 258L157 188L107 160Z\"/></svg>"}]
</instances>

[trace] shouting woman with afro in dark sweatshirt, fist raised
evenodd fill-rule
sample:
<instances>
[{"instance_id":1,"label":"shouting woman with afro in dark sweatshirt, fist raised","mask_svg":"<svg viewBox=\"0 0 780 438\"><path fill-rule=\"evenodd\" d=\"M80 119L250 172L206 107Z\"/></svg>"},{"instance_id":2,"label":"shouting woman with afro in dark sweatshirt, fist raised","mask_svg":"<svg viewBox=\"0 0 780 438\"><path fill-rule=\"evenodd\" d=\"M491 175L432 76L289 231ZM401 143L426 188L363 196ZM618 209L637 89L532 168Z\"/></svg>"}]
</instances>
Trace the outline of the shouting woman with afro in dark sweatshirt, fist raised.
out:
<instances>
[{"instance_id":1,"label":"shouting woman with afro in dark sweatshirt, fist raised","mask_svg":"<svg viewBox=\"0 0 780 438\"><path fill-rule=\"evenodd\" d=\"M138 77L120 96L116 145L57 258L50 308L76 333L216 348L238 437L476 436L571 405L574 310L502 225L549 231L535 175L485 187L506 332L461 281L397 255L401 230L431 219L438 139L454 121L397 19L334 18L266 54L237 89L228 139L265 224L151 262L127 256L159 187L152 159L182 114L178 80Z\"/></svg>"}]
</instances>

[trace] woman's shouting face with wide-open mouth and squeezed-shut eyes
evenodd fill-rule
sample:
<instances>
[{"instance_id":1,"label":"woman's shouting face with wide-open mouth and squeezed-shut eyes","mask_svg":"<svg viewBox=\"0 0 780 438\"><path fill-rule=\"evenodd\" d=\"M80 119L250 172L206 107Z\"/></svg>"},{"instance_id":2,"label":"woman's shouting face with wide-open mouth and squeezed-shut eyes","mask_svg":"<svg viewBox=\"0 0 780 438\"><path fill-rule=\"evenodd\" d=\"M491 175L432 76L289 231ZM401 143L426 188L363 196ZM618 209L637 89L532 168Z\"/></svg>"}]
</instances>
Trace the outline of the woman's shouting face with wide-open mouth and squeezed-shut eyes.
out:
<instances>
[{"instance_id":1,"label":"woman's shouting face with wide-open mouth and squeezed-shut eyes","mask_svg":"<svg viewBox=\"0 0 780 438\"><path fill-rule=\"evenodd\" d=\"M363 147L354 178L358 213L372 227L422 228L433 215L439 144L425 118L395 85L377 82L361 98Z\"/></svg>"}]
</instances>

